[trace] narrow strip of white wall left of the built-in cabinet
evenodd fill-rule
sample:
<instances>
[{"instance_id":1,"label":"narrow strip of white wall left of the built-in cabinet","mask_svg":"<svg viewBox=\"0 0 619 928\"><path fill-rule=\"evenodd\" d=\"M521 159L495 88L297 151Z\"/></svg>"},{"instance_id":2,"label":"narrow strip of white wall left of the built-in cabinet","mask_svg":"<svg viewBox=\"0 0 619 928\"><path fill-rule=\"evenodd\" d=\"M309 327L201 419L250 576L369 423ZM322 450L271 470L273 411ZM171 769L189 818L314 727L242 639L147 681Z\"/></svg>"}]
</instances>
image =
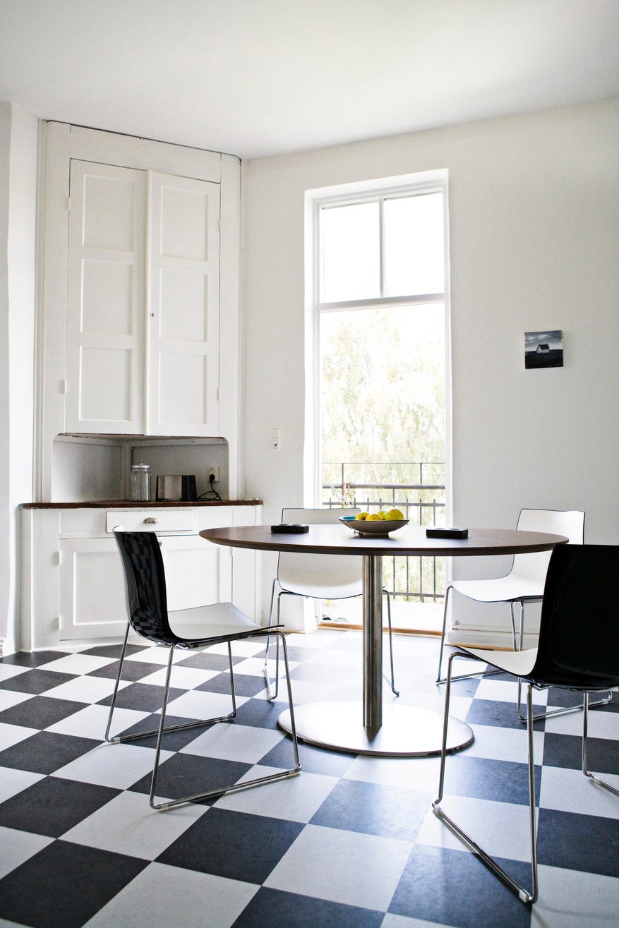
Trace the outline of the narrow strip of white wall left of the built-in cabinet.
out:
<instances>
[{"instance_id":1,"label":"narrow strip of white wall left of the built-in cabinet","mask_svg":"<svg viewBox=\"0 0 619 928\"><path fill-rule=\"evenodd\" d=\"M19 503L32 499L37 121L0 103L0 639L18 621Z\"/></svg>"}]
</instances>

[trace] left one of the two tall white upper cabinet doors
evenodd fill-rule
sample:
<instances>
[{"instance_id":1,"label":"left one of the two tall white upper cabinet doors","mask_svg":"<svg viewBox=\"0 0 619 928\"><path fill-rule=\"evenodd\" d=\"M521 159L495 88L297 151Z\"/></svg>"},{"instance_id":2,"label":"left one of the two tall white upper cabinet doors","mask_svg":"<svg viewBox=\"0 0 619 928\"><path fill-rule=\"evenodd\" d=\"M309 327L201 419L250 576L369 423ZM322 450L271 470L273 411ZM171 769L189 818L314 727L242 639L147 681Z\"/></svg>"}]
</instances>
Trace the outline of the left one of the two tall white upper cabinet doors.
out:
<instances>
[{"instance_id":1,"label":"left one of the two tall white upper cabinet doors","mask_svg":"<svg viewBox=\"0 0 619 928\"><path fill-rule=\"evenodd\" d=\"M67 432L144 431L147 173L71 161Z\"/></svg>"}]
</instances>

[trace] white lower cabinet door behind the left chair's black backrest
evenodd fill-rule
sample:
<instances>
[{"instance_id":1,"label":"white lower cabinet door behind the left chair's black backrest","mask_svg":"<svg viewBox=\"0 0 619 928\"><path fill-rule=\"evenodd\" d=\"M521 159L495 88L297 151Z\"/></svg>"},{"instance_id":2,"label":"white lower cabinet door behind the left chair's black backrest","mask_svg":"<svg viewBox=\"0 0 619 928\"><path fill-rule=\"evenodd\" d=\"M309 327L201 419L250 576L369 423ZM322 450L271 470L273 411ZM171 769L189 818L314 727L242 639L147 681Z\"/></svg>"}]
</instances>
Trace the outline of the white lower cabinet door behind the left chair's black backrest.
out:
<instances>
[{"instance_id":1,"label":"white lower cabinet door behind the left chair's black backrest","mask_svg":"<svg viewBox=\"0 0 619 928\"><path fill-rule=\"evenodd\" d=\"M114 539L67 538L59 547L59 640L121 638L127 607Z\"/></svg>"}]
</instances>

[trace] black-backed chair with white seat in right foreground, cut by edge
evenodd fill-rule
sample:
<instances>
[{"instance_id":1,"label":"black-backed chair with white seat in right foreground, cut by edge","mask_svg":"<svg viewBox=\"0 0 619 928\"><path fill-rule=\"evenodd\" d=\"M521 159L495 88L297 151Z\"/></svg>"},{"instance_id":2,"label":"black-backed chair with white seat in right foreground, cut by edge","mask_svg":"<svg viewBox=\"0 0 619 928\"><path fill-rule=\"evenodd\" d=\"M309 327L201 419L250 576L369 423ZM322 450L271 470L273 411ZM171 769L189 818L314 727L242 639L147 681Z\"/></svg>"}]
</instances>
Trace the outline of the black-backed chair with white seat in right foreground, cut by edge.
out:
<instances>
[{"instance_id":1,"label":"black-backed chair with white seat in right foreground, cut by edge","mask_svg":"<svg viewBox=\"0 0 619 928\"><path fill-rule=\"evenodd\" d=\"M532 889L516 883L493 857L476 844L441 806L445 787L445 756L452 665L456 658L483 660L496 670L527 683L529 756L529 828L531 832ZM599 786L619 795L610 783L587 768L588 694L619 686L619 546L561 545L548 564L537 647L527 651L482 651L458 648L449 657L445 689L445 719L436 815L471 847L499 879L525 903L537 898L535 779L533 756L533 690L559 687L584 694L582 771Z\"/></svg>"}]
</instances>

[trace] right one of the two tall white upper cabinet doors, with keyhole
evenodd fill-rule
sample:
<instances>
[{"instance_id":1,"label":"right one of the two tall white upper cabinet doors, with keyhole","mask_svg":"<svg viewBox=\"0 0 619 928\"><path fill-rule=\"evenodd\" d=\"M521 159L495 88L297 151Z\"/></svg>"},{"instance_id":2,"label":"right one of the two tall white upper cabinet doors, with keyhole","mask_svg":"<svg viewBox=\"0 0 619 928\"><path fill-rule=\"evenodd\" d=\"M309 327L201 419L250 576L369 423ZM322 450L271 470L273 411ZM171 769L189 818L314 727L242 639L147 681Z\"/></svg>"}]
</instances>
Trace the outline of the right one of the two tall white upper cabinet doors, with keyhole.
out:
<instances>
[{"instance_id":1,"label":"right one of the two tall white upper cabinet doors, with keyhole","mask_svg":"<svg viewBox=\"0 0 619 928\"><path fill-rule=\"evenodd\" d=\"M219 193L148 174L150 435L219 432Z\"/></svg>"}]
</instances>

